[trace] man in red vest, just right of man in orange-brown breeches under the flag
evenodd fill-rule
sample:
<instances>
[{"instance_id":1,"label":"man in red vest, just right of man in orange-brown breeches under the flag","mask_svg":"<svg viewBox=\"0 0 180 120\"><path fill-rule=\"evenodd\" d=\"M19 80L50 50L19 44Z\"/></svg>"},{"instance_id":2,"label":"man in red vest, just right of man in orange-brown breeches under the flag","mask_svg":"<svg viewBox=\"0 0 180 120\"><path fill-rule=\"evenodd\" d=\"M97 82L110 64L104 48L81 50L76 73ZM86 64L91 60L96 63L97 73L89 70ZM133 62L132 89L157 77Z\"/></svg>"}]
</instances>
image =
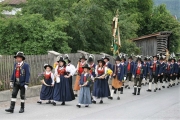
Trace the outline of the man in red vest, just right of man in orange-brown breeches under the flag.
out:
<instances>
[{"instance_id":1,"label":"man in red vest, just right of man in orange-brown breeches under the flag","mask_svg":"<svg viewBox=\"0 0 180 120\"><path fill-rule=\"evenodd\" d=\"M130 89L130 83L131 83L131 78L132 78L132 73L134 70L134 62L132 56L128 58L127 62L127 79L128 79L128 85L125 86L125 88Z\"/></svg>"}]
</instances>

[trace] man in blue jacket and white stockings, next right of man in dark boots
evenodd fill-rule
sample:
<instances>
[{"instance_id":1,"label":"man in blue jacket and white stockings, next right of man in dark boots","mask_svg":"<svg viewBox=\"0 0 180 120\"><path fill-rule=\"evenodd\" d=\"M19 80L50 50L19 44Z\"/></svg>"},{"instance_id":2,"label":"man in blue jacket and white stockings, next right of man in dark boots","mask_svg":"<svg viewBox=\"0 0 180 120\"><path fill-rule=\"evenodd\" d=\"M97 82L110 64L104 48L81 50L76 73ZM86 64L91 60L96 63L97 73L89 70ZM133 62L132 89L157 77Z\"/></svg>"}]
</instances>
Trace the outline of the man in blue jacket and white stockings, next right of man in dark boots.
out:
<instances>
[{"instance_id":1,"label":"man in blue jacket and white stockings, next right of man in dark boots","mask_svg":"<svg viewBox=\"0 0 180 120\"><path fill-rule=\"evenodd\" d=\"M151 68L150 75L152 77L149 80L149 89L147 90L148 92L151 92L152 79L154 79L154 83L155 83L154 92L156 92L157 79L158 79L158 73L159 73L159 65L160 65L160 63L158 61L157 55L153 56L153 61L150 63L150 68Z\"/></svg>"}]
</instances>

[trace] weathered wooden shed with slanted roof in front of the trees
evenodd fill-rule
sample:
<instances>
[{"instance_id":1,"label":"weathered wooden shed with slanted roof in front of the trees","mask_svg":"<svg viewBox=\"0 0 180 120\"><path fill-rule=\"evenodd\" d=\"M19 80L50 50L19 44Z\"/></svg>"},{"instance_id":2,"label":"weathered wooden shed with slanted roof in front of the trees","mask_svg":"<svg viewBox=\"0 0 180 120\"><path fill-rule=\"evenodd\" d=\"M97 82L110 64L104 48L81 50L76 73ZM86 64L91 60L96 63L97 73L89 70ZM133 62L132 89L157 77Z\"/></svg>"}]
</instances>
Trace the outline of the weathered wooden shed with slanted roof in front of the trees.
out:
<instances>
[{"instance_id":1,"label":"weathered wooden shed with slanted roof in front of the trees","mask_svg":"<svg viewBox=\"0 0 180 120\"><path fill-rule=\"evenodd\" d=\"M142 55L156 55L158 53L166 52L169 50L169 36L170 31L162 31L154 34L149 34L132 39L133 42L140 48Z\"/></svg>"}]
</instances>

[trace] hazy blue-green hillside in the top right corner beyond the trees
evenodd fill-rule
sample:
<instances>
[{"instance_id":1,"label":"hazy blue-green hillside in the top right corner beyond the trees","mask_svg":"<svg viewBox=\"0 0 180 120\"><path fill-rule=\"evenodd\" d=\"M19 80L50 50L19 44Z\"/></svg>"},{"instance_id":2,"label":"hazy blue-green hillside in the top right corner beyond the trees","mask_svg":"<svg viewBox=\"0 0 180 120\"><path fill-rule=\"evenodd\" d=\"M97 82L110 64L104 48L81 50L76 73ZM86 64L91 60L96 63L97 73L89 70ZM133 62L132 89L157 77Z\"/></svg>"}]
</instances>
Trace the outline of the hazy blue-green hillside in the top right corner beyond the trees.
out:
<instances>
[{"instance_id":1,"label":"hazy blue-green hillside in the top right corner beyond the trees","mask_svg":"<svg viewBox=\"0 0 180 120\"><path fill-rule=\"evenodd\" d=\"M180 19L180 0L154 0L154 4L166 4L167 9L172 15L176 15Z\"/></svg>"}]
</instances>

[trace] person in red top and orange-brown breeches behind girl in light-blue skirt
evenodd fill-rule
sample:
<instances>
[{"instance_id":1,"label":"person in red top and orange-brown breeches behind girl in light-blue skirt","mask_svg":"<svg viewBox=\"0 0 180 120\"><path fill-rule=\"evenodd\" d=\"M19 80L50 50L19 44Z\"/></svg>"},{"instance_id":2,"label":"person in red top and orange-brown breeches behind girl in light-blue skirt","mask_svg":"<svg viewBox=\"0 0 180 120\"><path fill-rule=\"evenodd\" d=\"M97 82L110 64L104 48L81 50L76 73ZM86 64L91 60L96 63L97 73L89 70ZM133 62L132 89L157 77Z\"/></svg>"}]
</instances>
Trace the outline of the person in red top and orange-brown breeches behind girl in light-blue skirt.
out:
<instances>
[{"instance_id":1,"label":"person in red top and orange-brown breeches behind girl in light-blue skirt","mask_svg":"<svg viewBox=\"0 0 180 120\"><path fill-rule=\"evenodd\" d=\"M77 76L76 76L76 80L75 80L75 84L74 84L74 96L77 97L78 94L78 90L80 90L79 87L79 81L80 81L80 77L81 74L83 72L83 66L86 64L86 57L83 55L82 57L80 57L80 61L78 61L78 65L77 65Z\"/></svg>"}]
</instances>

